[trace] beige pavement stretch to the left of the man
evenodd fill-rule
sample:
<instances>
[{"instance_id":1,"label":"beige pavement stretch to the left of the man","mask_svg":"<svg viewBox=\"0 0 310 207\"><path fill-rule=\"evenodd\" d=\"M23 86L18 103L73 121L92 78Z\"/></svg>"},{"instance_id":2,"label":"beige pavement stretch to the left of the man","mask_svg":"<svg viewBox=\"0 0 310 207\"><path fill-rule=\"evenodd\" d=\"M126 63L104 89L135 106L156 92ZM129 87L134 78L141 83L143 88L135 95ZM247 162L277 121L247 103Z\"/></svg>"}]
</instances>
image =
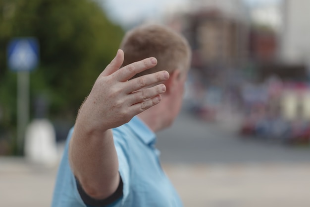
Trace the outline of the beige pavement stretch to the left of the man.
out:
<instances>
[{"instance_id":1,"label":"beige pavement stretch to the left of the man","mask_svg":"<svg viewBox=\"0 0 310 207\"><path fill-rule=\"evenodd\" d=\"M23 158L0 157L0 207L49 207L56 167L42 168Z\"/></svg>"}]
</instances>

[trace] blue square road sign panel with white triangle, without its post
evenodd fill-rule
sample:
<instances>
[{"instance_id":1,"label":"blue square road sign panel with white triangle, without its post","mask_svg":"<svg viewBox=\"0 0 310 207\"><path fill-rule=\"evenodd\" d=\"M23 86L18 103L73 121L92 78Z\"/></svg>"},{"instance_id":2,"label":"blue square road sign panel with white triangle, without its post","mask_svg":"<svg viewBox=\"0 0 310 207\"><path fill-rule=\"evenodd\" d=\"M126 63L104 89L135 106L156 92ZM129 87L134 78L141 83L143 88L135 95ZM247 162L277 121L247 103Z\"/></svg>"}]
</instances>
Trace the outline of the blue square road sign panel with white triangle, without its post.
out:
<instances>
[{"instance_id":1,"label":"blue square road sign panel with white triangle, without its post","mask_svg":"<svg viewBox=\"0 0 310 207\"><path fill-rule=\"evenodd\" d=\"M35 38L16 38L7 46L8 67L14 71L30 71L39 62L39 44Z\"/></svg>"}]
</instances>

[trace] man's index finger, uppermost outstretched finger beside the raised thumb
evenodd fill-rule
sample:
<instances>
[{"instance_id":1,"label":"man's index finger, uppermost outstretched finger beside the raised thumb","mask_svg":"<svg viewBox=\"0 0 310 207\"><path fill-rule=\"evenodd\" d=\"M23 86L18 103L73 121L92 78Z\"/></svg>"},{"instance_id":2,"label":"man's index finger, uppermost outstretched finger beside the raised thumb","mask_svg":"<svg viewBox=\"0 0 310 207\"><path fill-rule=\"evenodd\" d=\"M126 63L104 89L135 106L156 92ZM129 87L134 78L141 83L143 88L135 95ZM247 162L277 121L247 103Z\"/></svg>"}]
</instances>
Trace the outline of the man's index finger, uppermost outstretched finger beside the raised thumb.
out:
<instances>
[{"instance_id":1,"label":"man's index finger, uppermost outstretched finger beside the raised thumb","mask_svg":"<svg viewBox=\"0 0 310 207\"><path fill-rule=\"evenodd\" d=\"M142 61L138 61L123 68L117 70L114 74L118 81L126 81L132 78L135 74L142 72L146 69L151 69L157 65L156 58L146 58Z\"/></svg>"}]
</instances>

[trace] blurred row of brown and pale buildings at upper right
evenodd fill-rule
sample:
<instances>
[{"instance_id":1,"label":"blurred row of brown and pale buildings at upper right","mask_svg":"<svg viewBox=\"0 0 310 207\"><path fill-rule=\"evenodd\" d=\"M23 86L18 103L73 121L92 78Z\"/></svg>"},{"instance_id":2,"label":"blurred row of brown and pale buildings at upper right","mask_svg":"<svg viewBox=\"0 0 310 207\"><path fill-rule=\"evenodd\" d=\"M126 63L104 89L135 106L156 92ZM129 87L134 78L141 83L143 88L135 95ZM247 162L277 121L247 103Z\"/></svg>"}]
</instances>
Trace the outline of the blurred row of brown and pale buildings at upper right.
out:
<instances>
[{"instance_id":1,"label":"blurred row of brown and pale buildings at upper right","mask_svg":"<svg viewBox=\"0 0 310 207\"><path fill-rule=\"evenodd\" d=\"M251 6L244 0L191 0L169 23L189 40L192 66L203 77L227 79L251 65L258 79L275 74L300 80L310 66L308 8L307 0Z\"/></svg>"}]
</instances>

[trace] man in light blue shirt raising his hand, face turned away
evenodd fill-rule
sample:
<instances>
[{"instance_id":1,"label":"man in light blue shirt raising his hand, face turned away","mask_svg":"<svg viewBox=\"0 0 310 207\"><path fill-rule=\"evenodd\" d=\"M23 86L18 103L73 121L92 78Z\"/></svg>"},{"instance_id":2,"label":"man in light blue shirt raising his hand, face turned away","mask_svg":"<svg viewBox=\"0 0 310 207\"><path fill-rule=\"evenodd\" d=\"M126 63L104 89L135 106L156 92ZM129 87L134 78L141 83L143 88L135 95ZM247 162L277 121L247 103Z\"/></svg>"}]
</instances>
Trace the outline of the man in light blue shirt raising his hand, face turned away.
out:
<instances>
[{"instance_id":1,"label":"man in light blue shirt raising his hand, face turned away","mask_svg":"<svg viewBox=\"0 0 310 207\"><path fill-rule=\"evenodd\" d=\"M145 25L121 49L79 110L52 207L182 206L160 167L155 132L179 113L190 47L165 26Z\"/></svg>"}]
</instances>

